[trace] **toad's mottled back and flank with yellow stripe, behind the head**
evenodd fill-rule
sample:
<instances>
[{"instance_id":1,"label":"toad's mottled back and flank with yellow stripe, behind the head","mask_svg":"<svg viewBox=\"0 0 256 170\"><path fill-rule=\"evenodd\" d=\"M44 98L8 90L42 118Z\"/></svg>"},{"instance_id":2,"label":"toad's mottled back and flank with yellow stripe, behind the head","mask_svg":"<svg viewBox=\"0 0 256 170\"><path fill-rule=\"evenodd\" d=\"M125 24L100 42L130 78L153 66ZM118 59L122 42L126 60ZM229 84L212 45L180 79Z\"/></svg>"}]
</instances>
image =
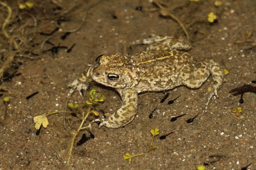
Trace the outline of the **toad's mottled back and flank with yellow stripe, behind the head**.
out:
<instances>
[{"instance_id":1,"label":"toad's mottled back and flank with yellow stripe, behind the head","mask_svg":"<svg viewBox=\"0 0 256 170\"><path fill-rule=\"evenodd\" d=\"M163 91L181 85L194 66L192 57L179 50L148 50L132 56L139 68L139 92Z\"/></svg>"}]
</instances>

